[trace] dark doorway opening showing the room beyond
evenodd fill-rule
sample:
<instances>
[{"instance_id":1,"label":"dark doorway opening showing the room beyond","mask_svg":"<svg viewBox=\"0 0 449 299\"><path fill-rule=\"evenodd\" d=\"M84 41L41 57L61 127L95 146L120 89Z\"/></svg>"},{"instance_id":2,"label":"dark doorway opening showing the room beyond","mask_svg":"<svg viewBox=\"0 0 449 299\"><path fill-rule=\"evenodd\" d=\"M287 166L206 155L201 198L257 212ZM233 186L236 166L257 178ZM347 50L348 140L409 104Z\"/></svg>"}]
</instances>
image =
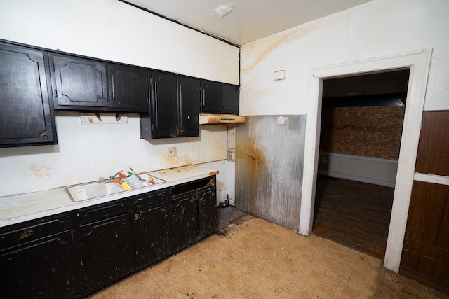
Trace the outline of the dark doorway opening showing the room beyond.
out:
<instances>
[{"instance_id":1,"label":"dark doorway opening showing the room beyond","mask_svg":"<svg viewBox=\"0 0 449 299\"><path fill-rule=\"evenodd\" d=\"M312 233L384 259L410 69L323 80Z\"/></svg>"}]
</instances>

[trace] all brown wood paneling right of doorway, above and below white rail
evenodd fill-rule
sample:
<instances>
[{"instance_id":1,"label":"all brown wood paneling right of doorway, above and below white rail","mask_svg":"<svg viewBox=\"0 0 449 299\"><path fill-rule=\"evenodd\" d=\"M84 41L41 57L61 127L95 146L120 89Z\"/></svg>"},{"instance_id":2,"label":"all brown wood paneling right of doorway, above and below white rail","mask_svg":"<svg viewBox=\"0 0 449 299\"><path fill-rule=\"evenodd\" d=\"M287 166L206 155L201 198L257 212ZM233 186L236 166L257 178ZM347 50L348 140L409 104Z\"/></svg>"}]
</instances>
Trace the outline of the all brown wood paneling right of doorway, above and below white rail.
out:
<instances>
[{"instance_id":1,"label":"all brown wood paneling right of doorway, above and below white rail","mask_svg":"<svg viewBox=\"0 0 449 299\"><path fill-rule=\"evenodd\" d=\"M423 113L415 172L449 176L449 111ZM400 273L449 294L449 186L413 182Z\"/></svg>"}]
</instances>

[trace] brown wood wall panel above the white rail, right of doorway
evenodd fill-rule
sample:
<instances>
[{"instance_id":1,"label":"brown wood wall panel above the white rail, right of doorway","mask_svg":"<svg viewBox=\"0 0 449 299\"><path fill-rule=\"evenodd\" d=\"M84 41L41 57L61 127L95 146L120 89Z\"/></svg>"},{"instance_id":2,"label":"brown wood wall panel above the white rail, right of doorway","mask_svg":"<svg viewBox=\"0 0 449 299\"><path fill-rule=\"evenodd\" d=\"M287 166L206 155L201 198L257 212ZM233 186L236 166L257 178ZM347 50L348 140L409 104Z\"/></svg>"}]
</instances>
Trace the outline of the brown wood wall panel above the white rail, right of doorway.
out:
<instances>
[{"instance_id":1,"label":"brown wood wall panel above the white rail, right of doorway","mask_svg":"<svg viewBox=\"0 0 449 299\"><path fill-rule=\"evenodd\" d=\"M449 111L424 111L415 172L449 176Z\"/></svg>"}]
</instances>

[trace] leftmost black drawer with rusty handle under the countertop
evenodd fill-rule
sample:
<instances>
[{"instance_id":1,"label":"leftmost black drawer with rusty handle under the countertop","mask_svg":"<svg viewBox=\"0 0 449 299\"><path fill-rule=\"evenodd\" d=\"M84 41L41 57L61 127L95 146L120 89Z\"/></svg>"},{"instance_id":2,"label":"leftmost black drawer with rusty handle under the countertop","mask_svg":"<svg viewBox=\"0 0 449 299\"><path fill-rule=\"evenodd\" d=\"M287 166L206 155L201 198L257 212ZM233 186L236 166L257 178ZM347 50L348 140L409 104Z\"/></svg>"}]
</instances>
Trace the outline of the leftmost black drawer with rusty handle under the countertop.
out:
<instances>
[{"instance_id":1,"label":"leftmost black drawer with rusty handle under the countertop","mask_svg":"<svg viewBox=\"0 0 449 299\"><path fill-rule=\"evenodd\" d=\"M69 230L69 214L20 223L0 231L0 250Z\"/></svg>"}]
</instances>

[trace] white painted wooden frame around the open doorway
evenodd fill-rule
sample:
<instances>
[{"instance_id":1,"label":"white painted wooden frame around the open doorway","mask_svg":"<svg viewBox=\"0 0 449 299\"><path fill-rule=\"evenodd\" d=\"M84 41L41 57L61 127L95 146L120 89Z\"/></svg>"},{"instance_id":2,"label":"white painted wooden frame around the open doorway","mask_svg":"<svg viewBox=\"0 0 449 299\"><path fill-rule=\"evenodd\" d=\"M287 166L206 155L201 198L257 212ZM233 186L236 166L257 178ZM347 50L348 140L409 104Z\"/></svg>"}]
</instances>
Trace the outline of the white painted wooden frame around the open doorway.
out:
<instances>
[{"instance_id":1,"label":"white painted wooden frame around the open doorway","mask_svg":"<svg viewBox=\"0 0 449 299\"><path fill-rule=\"evenodd\" d=\"M300 228L298 230L301 235L309 235L311 233L314 221L323 79L397 69L410 69L398 172L396 174L396 186L384 259L384 267L394 272L399 271L403 239L406 233L408 207L412 192L413 175L415 173L416 153L420 138L422 111L424 109L424 97L427 88L427 77L429 76L431 53L432 49L428 48L410 53L377 57L370 60L309 70L304 171L302 177Z\"/></svg>"}]
</instances>

